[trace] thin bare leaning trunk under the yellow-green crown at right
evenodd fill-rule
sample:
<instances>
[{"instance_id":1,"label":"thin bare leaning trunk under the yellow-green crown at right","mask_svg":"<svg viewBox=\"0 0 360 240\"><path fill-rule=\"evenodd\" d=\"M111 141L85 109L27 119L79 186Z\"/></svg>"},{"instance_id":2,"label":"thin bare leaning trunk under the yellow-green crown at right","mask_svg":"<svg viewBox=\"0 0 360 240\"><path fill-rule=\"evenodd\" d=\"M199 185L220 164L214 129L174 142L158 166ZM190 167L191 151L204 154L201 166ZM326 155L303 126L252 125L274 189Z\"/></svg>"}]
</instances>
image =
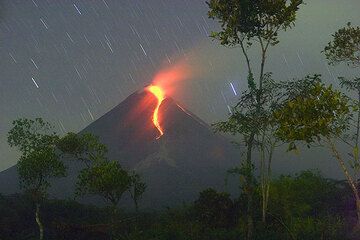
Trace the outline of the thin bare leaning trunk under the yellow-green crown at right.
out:
<instances>
[{"instance_id":1,"label":"thin bare leaning trunk under the yellow-green crown at right","mask_svg":"<svg viewBox=\"0 0 360 240\"><path fill-rule=\"evenodd\" d=\"M331 139L327 139L331 151L333 152L335 158L338 160L341 169L343 170L343 173L347 179L348 184L350 185L350 188L353 191L354 197L355 197L355 203L356 203L356 215L357 215L357 222L356 222L356 228L360 228L360 195L359 191L357 189L357 183L351 176L351 174L348 171L348 168L346 167L346 164L344 160L342 159L339 151L336 149L336 146L334 142Z\"/></svg>"}]
</instances>

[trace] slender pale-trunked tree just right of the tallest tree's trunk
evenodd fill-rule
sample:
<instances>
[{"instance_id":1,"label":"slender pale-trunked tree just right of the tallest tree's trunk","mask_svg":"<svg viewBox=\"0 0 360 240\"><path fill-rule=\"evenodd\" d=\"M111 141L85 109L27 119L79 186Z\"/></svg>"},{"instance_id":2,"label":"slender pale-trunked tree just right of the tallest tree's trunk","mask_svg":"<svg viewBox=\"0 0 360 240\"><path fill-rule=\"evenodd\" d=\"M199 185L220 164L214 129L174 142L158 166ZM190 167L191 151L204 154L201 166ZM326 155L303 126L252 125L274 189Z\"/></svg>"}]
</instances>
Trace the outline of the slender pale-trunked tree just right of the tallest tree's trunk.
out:
<instances>
[{"instance_id":1,"label":"slender pale-trunked tree just right of the tallest tree's trunk","mask_svg":"<svg viewBox=\"0 0 360 240\"><path fill-rule=\"evenodd\" d=\"M260 109L256 102L257 91L244 91L237 105L232 108L232 114L225 122L214 124L219 131L229 132L231 134L241 133L247 142L251 134L256 129L254 136L254 147L260 152L260 193L262 207L262 221L266 220L266 212L270 194L271 163L275 148L280 146L279 139L274 135L277 128L277 122L274 120L273 112L281 102L281 87L276 84L270 74L265 74L263 90L261 92ZM254 166L242 164L240 168L230 169L228 173L245 177L244 180L252 178L252 186L256 186L257 180L252 172ZM241 180L242 185L247 185L246 181ZM251 189L248 186L242 187L242 190L249 194Z\"/></svg>"}]
</instances>

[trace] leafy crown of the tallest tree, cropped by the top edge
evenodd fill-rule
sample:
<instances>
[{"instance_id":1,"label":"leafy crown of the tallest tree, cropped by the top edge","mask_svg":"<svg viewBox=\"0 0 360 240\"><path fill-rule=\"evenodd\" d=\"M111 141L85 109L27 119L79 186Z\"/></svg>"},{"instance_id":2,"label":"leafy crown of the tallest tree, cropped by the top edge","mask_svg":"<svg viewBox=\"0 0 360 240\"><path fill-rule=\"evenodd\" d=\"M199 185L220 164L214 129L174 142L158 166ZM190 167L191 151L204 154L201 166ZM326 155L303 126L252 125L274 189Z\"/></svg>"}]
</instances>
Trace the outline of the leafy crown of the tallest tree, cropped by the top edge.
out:
<instances>
[{"instance_id":1,"label":"leafy crown of the tallest tree, cropped by the top edge","mask_svg":"<svg viewBox=\"0 0 360 240\"><path fill-rule=\"evenodd\" d=\"M302 0L210 0L208 16L218 19L221 31L211 37L222 45L235 46L261 38L271 45L278 41L278 30L291 28Z\"/></svg>"}]
</instances>

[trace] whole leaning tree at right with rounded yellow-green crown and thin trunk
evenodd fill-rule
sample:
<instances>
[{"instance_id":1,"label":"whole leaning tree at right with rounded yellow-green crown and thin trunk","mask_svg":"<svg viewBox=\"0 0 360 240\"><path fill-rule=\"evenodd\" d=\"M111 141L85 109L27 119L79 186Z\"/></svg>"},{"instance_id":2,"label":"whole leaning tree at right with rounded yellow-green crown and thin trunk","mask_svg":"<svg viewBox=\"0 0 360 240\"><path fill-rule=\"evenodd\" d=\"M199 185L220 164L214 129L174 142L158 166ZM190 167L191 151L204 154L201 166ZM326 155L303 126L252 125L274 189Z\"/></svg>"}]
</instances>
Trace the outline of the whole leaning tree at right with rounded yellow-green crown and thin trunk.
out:
<instances>
[{"instance_id":1,"label":"whole leaning tree at right with rounded yellow-green crown and thin trunk","mask_svg":"<svg viewBox=\"0 0 360 240\"><path fill-rule=\"evenodd\" d=\"M319 76L307 80L308 85L288 94L281 109L275 113L279 122L276 134L290 143L290 149L296 148L296 142L303 141L309 147L313 144L325 144L339 163L356 201L358 224L360 220L360 194L356 175L349 171L344 157L336 146L349 130L353 106L347 96L332 86L321 83ZM294 88L291 84L289 88ZM298 88L299 89L299 88ZM296 93L297 92L297 93Z\"/></svg>"}]
</instances>

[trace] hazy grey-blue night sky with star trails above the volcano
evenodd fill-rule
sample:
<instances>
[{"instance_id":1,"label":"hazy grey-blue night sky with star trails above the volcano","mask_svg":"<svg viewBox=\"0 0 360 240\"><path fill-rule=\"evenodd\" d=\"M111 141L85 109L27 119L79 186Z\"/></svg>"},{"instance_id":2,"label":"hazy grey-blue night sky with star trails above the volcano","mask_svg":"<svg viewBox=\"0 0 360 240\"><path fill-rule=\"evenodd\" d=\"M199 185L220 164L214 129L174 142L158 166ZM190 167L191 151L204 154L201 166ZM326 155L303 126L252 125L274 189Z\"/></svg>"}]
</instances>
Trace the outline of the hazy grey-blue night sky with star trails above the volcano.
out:
<instances>
[{"instance_id":1,"label":"hazy grey-blue night sky with star trails above the volcano","mask_svg":"<svg viewBox=\"0 0 360 240\"><path fill-rule=\"evenodd\" d=\"M320 51L347 22L360 25L360 1L306 2L266 69L279 80L321 73L335 84L359 73L328 67ZM179 62L192 74L172 97L208 123L225 119L245 89L246 67L239 49L208 37L217 27L204 0L0 0L0 171L17 161L6 142L14 119L79 131ZM336 174L326 163L275 165Z\"/></svg>"}]
</instances>

